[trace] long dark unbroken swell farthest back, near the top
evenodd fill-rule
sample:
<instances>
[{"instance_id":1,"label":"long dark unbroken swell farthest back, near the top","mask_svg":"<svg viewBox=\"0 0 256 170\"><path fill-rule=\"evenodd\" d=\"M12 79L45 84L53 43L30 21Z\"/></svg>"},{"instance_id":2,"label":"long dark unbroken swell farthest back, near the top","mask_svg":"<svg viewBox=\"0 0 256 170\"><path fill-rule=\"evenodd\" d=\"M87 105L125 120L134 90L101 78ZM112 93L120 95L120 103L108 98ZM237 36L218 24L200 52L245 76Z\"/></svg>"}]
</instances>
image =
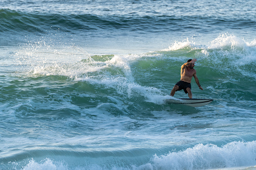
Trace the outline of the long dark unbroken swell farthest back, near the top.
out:
<instances>
[{"instance_id":1,"label":"long dark unbroken swell farthest back, near the top","mask_svg":"<svg viewBox=\"0 0 256 170\"><path fill-rule=\"evenodd\" d=\"M241 29L253 27L250 19L221 19L203 16L96 16L90 14L25 13L8 9L0 10L0 32L64 32L93 30L122 30L137 32L176 32L201 30L211 32L223 28Z\"/></svg>"}]
</instances>

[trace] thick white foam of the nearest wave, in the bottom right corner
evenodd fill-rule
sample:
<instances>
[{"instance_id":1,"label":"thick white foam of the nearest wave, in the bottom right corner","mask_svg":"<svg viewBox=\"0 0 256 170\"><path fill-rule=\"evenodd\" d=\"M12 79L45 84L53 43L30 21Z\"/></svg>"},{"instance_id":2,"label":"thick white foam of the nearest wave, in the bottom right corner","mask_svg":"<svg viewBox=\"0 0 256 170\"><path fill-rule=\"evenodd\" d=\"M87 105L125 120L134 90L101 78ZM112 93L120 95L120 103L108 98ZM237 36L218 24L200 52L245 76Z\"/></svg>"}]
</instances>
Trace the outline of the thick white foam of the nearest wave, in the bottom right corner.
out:
<instances>
[{"instance_id":1,"label":"thick white foam of the nearest wave, in the bottom right corner","mask_svg":"<svg viewBox=\"0 0 256 170\"><path fill-rule=\"evenodd\" d=\"M256 164L256 141L231 142L224 146L198 144L184 151L154 156L156 169L209 169Z\"/></svg>"}]
</instances>

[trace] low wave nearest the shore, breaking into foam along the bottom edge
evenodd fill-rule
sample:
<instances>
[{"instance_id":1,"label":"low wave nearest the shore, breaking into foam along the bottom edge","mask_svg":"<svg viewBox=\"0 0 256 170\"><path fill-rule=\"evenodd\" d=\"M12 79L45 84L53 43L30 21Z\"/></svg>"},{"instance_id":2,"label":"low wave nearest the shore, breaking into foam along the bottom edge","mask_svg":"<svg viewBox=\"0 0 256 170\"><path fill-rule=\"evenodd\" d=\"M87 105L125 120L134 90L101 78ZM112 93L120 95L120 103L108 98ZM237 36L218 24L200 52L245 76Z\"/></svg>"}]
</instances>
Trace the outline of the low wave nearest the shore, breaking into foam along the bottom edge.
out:
<instances>
[{"instance_id":1,"label":"low wave nearest the shore, breaking into foam along the bottom edge","mask_svg":"<svg viewBox=\"0 0 256 170\"><path fill-rule=\"evenodd\" d=\"M43 150L33 150L32 153L40 154ZM59 158L30 159L15 169L255 169L255 141L230 142L223 146L214 144L197 144L181 151L170 151L165 155L155 154L147 157L148 149L134 149L130 151L106 151L86 153L82 151L66 151ZM51 154L59 155L58 150L48 150ZM61 151L64 152L64 151ZM31 154L32 154L31 153ZM149 154L148 154L149 153ZM64 155L66 161L61 161ZM134 157L136 156L136 160ZM71 165L72 162L72 165ZM11 162L9 162L11 163ZM72 167L71 167L72 166Z\"/></svg>"}]
</instances>

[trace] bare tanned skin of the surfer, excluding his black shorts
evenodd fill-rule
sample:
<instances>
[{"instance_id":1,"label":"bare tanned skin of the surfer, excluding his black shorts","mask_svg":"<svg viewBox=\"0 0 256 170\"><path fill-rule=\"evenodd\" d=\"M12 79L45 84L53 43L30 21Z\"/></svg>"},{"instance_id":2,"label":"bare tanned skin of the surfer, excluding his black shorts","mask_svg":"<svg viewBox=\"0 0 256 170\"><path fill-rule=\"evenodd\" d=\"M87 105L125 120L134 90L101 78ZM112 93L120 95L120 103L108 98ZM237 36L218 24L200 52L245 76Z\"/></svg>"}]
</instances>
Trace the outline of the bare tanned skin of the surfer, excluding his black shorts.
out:
<instances>
[{"instance_id":1,"label":"bare tanned skin of the surfer, excluding his black shorts","mask_svg":"<svg viewBox=\"0 0 256 170\"><path fill-rule=\"evenodd\" d=\"M197 78L197 72L196 70L194 69L194 66L195 66L195 62L197 61L197 59L193 59L192 61L190 62L187 62L187 63L184 63L182 65L182 68L181 68L181 80L182 81L185 81L185 82L188 82L188 83L191 83L191 80L192 80L192 77L195 78L195 81L199 87L199 89L203 90L203 88L201 87L200 83L199 83L199 80ZM179 86L178 85L175 85L173 90L170 92L170 96L174 96L175 95L175 92L179 89ZM188 95L189 95L189 98L192 98L192 92L191 92L191 89L190 88L187 88L186 89L188 91Z\"/></svg>"}]
</instances>

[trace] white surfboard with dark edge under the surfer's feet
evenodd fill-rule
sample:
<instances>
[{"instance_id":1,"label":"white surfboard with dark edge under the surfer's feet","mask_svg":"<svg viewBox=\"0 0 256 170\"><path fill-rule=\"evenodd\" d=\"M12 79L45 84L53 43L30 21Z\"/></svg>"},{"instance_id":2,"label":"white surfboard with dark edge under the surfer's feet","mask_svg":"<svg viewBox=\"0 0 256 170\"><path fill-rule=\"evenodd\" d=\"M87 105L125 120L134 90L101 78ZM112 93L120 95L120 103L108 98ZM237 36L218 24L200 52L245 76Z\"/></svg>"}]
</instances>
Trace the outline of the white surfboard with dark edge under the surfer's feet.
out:
<instances>
[{"instance_id":1,"label":"white surfboard with dark edge under the surfer's feet","mask_svg":"<svg viewBox=\"0 0 256 170\"><path fill-rule=\"evenodd\" d=\"M184 104L192 107L205 106L211 103L212 101L213 99L166 99L166 103L168 104Z\"/></svg>"}]
</instances>

